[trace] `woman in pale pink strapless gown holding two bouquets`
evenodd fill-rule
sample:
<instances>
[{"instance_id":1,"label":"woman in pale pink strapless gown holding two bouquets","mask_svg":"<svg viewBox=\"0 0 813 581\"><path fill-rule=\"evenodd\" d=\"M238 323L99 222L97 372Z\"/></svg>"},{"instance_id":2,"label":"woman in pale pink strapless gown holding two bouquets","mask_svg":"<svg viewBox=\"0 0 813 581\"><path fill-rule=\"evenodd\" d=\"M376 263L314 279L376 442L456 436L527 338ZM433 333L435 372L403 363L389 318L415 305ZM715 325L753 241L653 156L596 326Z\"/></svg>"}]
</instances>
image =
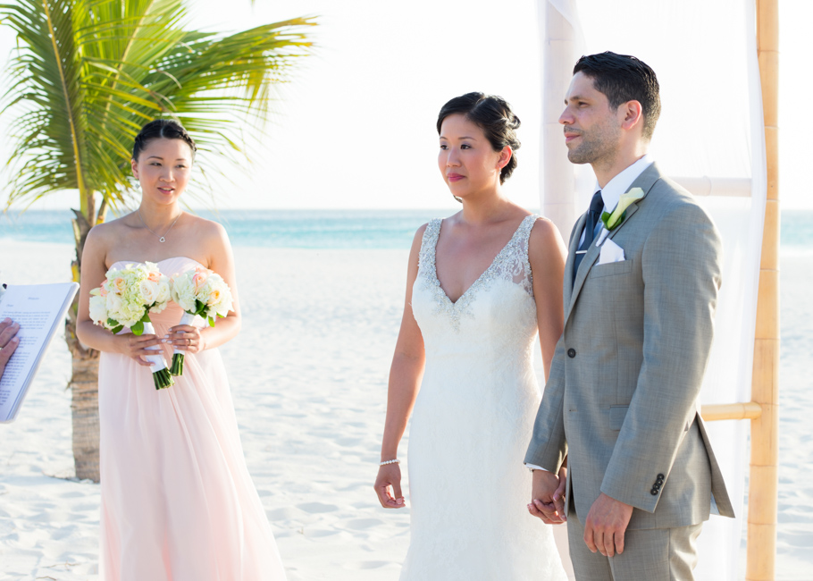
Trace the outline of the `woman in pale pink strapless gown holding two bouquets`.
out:
<instances>
[{"instance_id":1,"label":"woman in pale pink strapless gown holding two bouquets","mask_svg":"<svg viewBox=\"0 0 813 581\"><path fill-rule=\"evenodd\" d=\"M217 223L183 212L195 143L180 123L149 122L136 138L138 210L88 234L82 255L80 341L102 352L101 555L105 581L282 581L280 554L248 474L217 347L240 329L234 260ZM155 262L172 276L204 267L229 284L234 310L214 327L179 325L170 303L157 335L113 335L88 314L89 291L113 266ZM185 352L183 375L156 391L143 356Z\"/></svg>"}]
</instances>

